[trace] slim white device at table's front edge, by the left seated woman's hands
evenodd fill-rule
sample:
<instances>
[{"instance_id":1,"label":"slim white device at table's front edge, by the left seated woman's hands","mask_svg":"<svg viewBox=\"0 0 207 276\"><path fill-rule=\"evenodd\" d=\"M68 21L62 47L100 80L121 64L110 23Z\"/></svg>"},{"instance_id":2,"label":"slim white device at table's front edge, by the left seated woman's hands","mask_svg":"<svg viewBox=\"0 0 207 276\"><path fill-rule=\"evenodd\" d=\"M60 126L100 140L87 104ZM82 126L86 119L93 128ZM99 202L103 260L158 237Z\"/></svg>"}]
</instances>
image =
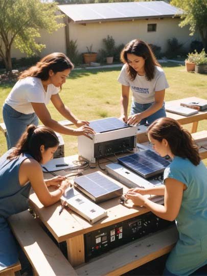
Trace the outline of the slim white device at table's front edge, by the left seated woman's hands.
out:
<instances>
[{"instance_id":1,"label":"slim white device at table's front edge, by the left seated woman's hands","mask_svg":"<svg viewBox=\"0 0 207 276\"><path fill-rule=\"evenodd\" d=\"M62 204L68 205L71 210L78 213L90 223L95 223L107 216L105 209L87 199L74 188L66 189L60 200Z\"/></svg>"}]
</instances>

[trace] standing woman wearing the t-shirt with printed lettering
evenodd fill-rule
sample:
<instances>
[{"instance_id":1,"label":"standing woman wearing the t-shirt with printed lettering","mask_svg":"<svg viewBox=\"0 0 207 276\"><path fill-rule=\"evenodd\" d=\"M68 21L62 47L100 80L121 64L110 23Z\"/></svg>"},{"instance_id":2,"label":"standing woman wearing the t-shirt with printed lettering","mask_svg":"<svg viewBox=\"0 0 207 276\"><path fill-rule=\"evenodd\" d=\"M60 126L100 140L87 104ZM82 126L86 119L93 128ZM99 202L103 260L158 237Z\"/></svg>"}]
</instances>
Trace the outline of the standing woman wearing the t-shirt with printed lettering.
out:
<instances>
[{"instance_id":1,"label":"standing woman wearing the t-shirt with printed lettering","mask_svg":"<svg viewBox=\"0 0 207 276\"><path fill-rule=\"evenodd\" d=\"M130 125L151 124L166 117L164 97L169 85L149 45L139 39L130 41L121 52L121 60L125 63L118 78L122 84L122 120ZM133 99L128 117L129 88Z\"/></svg>"}]
</instances>

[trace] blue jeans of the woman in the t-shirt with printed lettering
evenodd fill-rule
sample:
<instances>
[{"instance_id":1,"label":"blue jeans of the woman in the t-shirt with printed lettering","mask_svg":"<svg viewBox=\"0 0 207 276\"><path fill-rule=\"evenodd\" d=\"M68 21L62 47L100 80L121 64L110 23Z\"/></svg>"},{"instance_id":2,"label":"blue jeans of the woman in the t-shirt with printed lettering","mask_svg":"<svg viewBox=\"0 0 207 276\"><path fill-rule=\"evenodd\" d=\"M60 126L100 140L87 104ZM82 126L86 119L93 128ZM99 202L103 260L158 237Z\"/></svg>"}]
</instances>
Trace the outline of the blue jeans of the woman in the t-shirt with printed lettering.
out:
<instances>
[{"instance_id":1,"label":"blue jeans of the woman in the t-shirt with printed lettering","mask_svg":"<svg viewBox=\"0 0 207 276\"><path fill-rule=\"evenodd\" d=\"M140 113L145 111L146 109L148 109L153 103L148 103L148 104L140 104L140 103L136 103L134 101L132 101L131 104L131 110L130 110L130 115L136 114L136 113ZM162 108L160 108L159 110L157 110L155 113L151 114L150 116L148 116L145 119L142 119L140 121L140 125L144 125L146 123L151 124L152 122L154 122L156 119L162 118L162 117L166 117L166 112L165 112L165 103L162 106Z\"/></svg>"}]
</instances>

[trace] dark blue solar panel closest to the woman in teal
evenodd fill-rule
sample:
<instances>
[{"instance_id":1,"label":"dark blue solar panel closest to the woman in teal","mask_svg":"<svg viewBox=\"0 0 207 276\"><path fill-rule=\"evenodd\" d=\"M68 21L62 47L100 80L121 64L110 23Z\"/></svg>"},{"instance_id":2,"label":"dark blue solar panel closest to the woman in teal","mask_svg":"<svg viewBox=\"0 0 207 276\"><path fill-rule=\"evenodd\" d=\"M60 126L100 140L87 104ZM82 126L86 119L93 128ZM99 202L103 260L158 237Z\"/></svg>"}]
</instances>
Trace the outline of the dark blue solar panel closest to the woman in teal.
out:
<instances>
[{"instance_id":1,"label":"dark blue solar panel closest to the woman in teal","mask_svg":"<svg viewBox=\"0 0 207 276\"><path fill-rule=\"evenodd\" d=\"M165 168L170 164L168 160L157 155L151 150L143 150L124 157L118 158L119 162L141 174L145 178L149 178L163 173Z\"/></svg>"}]
</instances>

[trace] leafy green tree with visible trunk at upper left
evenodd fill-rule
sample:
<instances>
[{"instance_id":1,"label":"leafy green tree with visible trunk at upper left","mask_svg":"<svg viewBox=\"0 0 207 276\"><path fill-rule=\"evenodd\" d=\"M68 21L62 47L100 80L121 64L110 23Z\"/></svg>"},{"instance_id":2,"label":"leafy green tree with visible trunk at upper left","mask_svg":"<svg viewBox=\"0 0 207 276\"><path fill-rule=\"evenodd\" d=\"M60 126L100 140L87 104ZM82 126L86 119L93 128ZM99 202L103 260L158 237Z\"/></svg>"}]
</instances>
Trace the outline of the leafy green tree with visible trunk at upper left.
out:
<instances>
[{"instance_id":1,"label":"leafy green tree with visible trunk at upper left","mask_svg":"<svg viewBox=\"0 0 207 276\"><path fill-rule=\"evenodd\" d=\"M56 3L43 3L40 0L0 0L0 58L6 70L12 70L11 48L32 56L45 48L44 44L35 41L40 37L40 29L49 33L63 27L57 19Z\"/></svg>"}]
</instances>

